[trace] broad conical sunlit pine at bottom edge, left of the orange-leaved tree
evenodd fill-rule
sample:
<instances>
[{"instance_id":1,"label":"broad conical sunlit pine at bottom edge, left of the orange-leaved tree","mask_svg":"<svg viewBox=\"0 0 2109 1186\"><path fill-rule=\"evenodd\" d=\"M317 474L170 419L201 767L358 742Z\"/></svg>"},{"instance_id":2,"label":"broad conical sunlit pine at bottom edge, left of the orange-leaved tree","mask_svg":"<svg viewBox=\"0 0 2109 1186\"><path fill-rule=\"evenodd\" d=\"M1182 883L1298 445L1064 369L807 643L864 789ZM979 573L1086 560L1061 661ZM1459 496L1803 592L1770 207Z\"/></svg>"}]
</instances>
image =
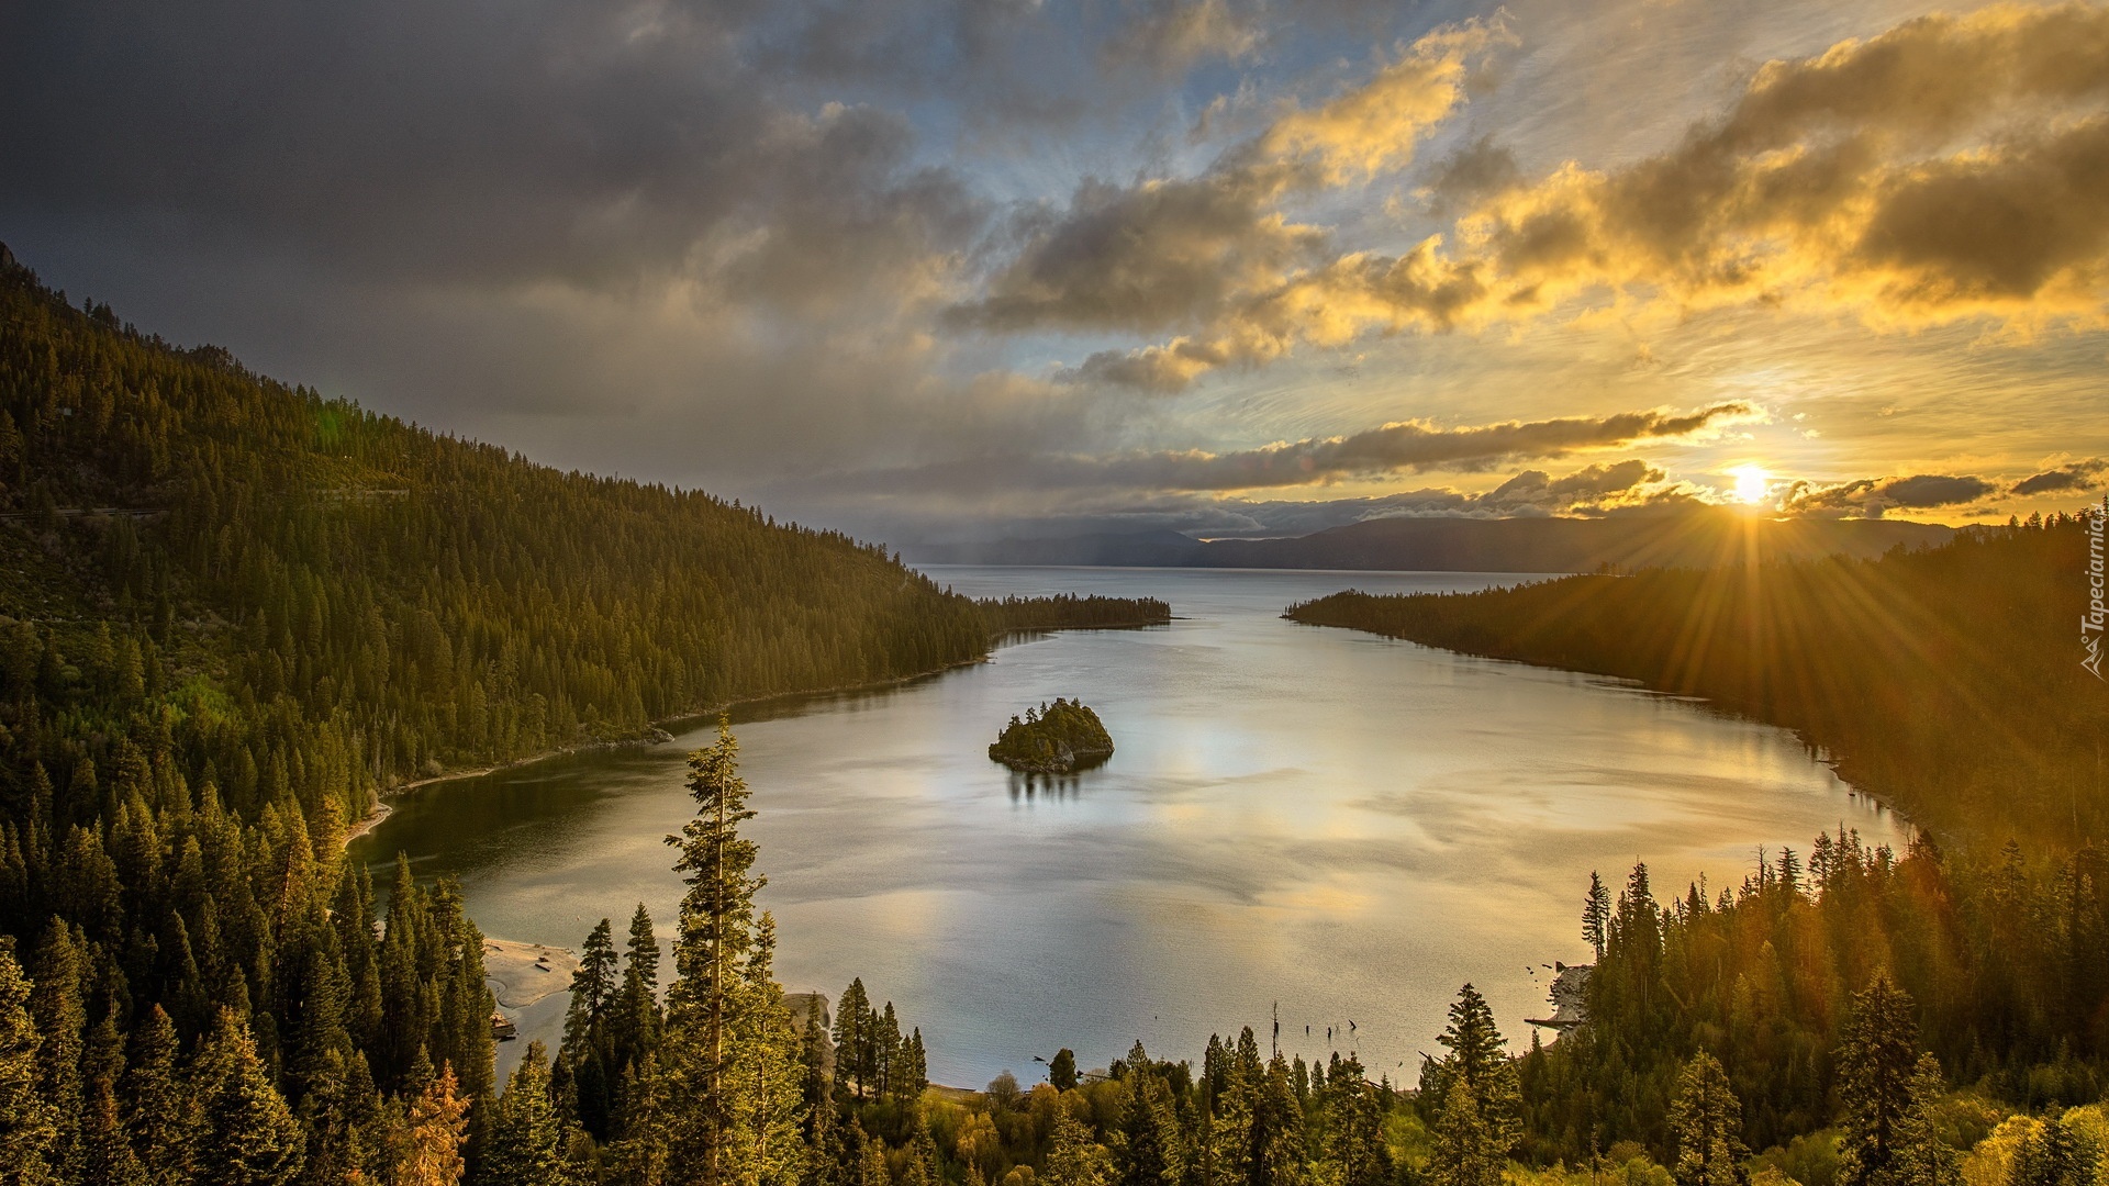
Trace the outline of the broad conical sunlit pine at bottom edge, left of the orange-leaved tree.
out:
<instances>
[{"instance_id":1,"label":"broad conical sunlit pine at bottom edge, left of the orange-leaved tree","mask_svg":"<svg viewBox=\"0 0 2109 1186\"><path fill-rule=\"evenodd\" d=\"M255 1038L232 1009L198 1049L190 1074L202 1135L198 1178L215 1186L283 1186L302 1167L302 1133L293 1110L270 1083Z\"/></svg>"}]
</instances>

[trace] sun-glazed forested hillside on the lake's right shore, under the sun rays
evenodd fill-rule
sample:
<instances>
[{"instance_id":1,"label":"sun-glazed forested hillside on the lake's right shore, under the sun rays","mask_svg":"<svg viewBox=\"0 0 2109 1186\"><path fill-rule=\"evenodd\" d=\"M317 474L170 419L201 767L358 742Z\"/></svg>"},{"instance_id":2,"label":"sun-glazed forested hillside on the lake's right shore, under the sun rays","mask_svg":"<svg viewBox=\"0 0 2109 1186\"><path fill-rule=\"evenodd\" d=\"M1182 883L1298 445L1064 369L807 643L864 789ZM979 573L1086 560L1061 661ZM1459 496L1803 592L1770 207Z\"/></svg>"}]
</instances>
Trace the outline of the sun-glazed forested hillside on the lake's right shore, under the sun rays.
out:
<instances>
[{"instance_id":1,"label":"sun-glazed forested hillside on the lake's right shore, under the sun rays","mask_svg":"<svg viewBox=\"0 0 2109 1186\"><path fill-rule=\"evenodd\" d=\"M1995 853L2109 838L2109 688L2079 667L2082 519L1923 551L1569 576L1289 610L1468 654L1639 680L1801 732L1856 787Z\"/></svg>"}]
</instances>

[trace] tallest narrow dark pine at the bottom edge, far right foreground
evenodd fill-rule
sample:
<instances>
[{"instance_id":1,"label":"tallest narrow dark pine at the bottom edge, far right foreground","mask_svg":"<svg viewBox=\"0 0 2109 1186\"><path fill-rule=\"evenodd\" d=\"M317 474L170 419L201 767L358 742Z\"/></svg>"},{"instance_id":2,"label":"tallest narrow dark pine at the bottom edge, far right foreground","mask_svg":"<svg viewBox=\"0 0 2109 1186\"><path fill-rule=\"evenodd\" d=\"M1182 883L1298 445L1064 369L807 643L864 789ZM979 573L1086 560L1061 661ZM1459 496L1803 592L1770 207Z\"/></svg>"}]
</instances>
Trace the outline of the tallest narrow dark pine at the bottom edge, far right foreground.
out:
<instances>
[{"instance_id":1,"label":"tallest narrow dark pine at the bottom edge, far right foreground","mask_svg":"<svg viewBox=\"0 0 2109 1186\"><path fill-rule=\"evenodd\" d=\"M1885 1180L1896 1152L1896 1127L1911 1106L1911 1076L1919 1061L1919 1024L1911 996L1888 973L1854 996L1852 1017L1839 1038L1839 1184L1871 1186Z\"/></svg>"}]
</instances>

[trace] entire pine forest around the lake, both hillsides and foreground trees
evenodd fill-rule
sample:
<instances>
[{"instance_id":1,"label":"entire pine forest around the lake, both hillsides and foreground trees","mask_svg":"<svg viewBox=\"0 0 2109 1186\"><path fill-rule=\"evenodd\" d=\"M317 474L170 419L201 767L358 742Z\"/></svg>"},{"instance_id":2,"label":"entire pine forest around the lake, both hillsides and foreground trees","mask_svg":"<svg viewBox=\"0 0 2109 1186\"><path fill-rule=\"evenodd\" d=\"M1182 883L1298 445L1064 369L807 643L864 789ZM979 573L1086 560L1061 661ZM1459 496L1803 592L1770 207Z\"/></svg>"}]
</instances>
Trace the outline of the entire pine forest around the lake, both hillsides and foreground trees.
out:
<instances>
[{"instance_id":1,"label":"entire pine forest around the lake, both hillsides and foreground trees","mask_svg":"<svg viewBox=\"0 0 2109 1186\"><path fill-rule=\"evenodd\" d=\"M612 922L584 935L563 1042L500 1085L460 886L344 859L380 791L1168 608L974 604L846 536L177 350L4 255L0 304L4 1182L2101 1182L2101 701L2058 650L2071 519L1331 601L1788 724L1930 823L1904 853L1765 855L1738 886L1578 886L1590 1019L1554 1042L1504 1036L1464 986L1411 1085L1251 1030L1198 1061L1065 1051L1029 1089L930 1085L945 1036L863 981L833 1011L776 986L721 732L690 758L666 948L643 910L620 952Z\"/></svg>"}]
</instances>

